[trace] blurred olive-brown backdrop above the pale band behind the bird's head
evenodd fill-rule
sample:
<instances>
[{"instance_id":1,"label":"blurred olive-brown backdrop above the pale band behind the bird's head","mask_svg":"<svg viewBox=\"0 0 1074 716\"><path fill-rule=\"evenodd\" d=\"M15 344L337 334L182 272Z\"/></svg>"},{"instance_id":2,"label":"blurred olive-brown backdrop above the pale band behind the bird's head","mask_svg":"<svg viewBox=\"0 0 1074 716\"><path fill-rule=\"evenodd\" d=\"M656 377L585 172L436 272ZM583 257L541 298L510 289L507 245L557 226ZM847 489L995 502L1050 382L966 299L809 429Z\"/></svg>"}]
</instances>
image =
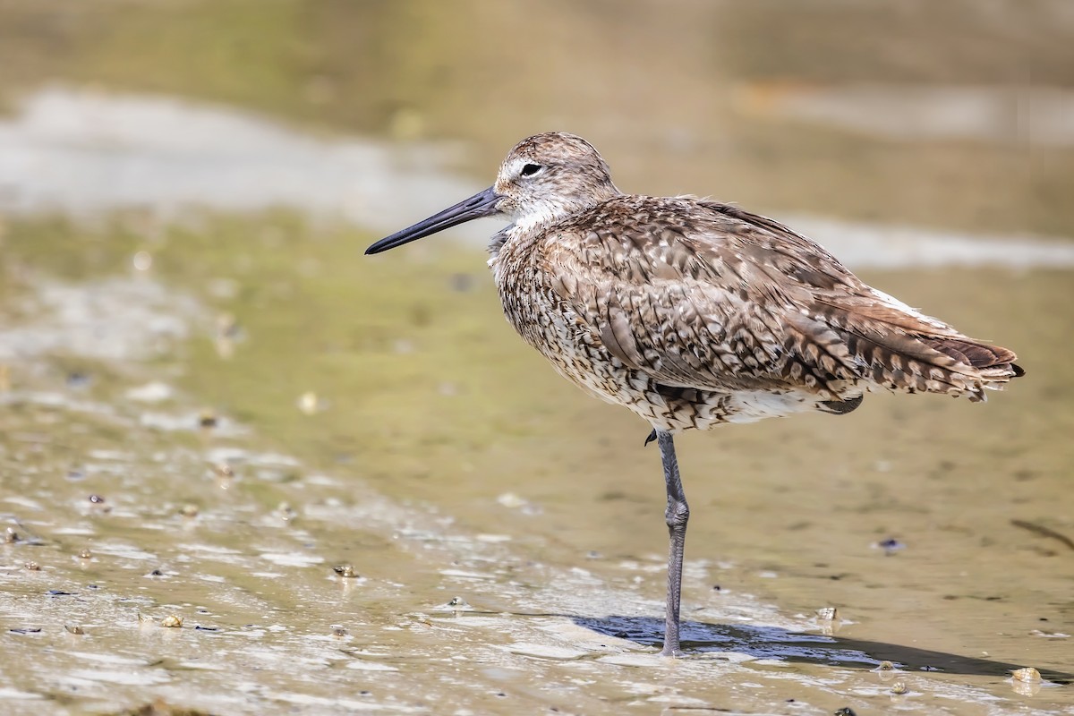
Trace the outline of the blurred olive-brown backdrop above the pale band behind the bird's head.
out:
<instances>
[{"instance_id":1,"label":"blurred olive-brown backdrop above the pale band behind the bird's head","mask_svg":"<svg viewBox=\"0 0 1074 716\"><path fill-rule=\"evenodd\" d=\"M592 137L621 184L768 211L1069 234L1059 0L794 3L5 0L3 97L182 97L329 133ZM862 181L868 177L868 181ZM956 186L952 186L956 185Z\"/></svg>"}]
</instances>

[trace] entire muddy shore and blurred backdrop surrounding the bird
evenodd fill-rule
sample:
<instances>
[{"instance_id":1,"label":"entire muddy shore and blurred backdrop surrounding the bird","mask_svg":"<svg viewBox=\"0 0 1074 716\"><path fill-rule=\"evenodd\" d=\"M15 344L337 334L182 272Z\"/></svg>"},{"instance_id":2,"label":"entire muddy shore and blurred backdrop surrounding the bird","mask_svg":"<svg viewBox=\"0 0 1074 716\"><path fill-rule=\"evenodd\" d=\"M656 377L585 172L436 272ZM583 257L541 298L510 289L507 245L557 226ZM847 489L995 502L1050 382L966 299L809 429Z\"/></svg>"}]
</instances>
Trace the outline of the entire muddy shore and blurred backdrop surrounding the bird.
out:
<instances>
[{"instance_id":1,"label":"entire muddy shore and blurred backdrop surrounding the bird","mask_svg":"<svg viewBox=\"0 0 1074 716\"><path fill-rule=\"evenodd\" d=\"M1008 678L1069 681L1074 629L1068 0L0 0L0 109L12 710L1074 703ZM498 227L362 255L549 130L1028 371L684 436L686 640L719 667L641 658L658 456L504 323Z\"/></svg>"}]
</instances>

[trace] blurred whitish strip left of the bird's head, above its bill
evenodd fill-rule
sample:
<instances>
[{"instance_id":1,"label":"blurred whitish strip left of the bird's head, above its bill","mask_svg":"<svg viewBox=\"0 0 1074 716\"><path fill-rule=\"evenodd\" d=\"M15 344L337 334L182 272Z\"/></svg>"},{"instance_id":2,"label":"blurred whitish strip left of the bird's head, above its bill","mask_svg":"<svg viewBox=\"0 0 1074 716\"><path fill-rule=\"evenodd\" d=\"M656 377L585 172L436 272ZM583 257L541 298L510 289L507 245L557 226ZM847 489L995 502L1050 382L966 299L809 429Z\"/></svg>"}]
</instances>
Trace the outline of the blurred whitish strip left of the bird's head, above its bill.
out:
<instances>
[{"instance_id":1,"label":"blurred whitish strip left of the bird's head, above its bill","mask_svg":"<svg viewBox=\"0 0 1074 716\"><path fill-rule=\"evenodd\" d=\"M0 121L0 209L95 211L142 206L275 205L375 227L404 221L400 196L454 203L460 181L430 171L444 147L318 138L221 106L131 94L41 89Z\"/></svg>"}]
</instances>

